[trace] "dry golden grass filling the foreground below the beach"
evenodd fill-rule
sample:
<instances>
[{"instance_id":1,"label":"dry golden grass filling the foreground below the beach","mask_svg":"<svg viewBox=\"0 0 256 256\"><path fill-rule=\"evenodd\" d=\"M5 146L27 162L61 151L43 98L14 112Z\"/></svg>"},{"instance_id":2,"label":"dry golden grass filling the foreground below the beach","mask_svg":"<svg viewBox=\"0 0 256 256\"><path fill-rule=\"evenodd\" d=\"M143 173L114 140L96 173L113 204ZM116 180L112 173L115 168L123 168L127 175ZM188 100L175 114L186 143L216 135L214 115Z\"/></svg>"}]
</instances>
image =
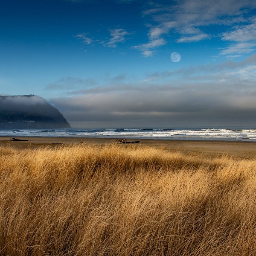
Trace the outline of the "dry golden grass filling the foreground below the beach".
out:
<instances>
[{"instance_id":1,"label":"dry golden grass filling the foreground below the beach","mask_svg":"<svg viewBox=\"0 0 256 256\"><path fill-rule=\"evenodd\" d=\"M0 147L0 255L256 255L256 161Z\"/></svg>"}]
</instances>

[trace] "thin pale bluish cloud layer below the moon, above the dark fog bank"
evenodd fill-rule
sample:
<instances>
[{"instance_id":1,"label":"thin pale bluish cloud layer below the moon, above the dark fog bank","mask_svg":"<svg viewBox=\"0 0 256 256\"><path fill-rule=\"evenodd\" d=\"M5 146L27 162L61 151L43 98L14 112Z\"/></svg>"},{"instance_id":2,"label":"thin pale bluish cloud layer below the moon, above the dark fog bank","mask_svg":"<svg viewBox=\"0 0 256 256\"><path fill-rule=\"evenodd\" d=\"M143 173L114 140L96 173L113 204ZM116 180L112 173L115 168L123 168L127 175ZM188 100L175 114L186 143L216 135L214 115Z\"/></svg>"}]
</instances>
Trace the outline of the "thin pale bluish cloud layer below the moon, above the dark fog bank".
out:
<instances>
[{"instance_id":1,"label":"thin pale bluish cloud layer below the moon, above the dark fog bank","mask_svg":"<svg viewBox=\"0 0 256 256\"><path fill-rule=\"evenodd\" d=\"M203 88L221 86L251 91L253 84L256 83L255 61L256 54L253 54L244 61L224 61L155 72L148 74L147 80L158 81L159 84L173 82L175 86L179 86L179 81L183 81L187 87L194 87L198 83L198 86L201 84Z\"/></svg>"}]
</instances>

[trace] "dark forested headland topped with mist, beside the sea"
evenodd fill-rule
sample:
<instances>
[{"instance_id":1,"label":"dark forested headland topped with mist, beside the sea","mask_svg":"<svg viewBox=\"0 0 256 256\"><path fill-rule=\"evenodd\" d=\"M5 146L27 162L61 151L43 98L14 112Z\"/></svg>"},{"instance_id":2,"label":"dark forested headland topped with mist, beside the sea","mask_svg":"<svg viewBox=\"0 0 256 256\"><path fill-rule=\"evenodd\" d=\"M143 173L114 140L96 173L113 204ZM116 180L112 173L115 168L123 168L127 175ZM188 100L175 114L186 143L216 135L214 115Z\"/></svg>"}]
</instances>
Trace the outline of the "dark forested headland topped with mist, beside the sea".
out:
<instances>
[{"instance_id":1,"label":"dark forested headland topped with mist, beside the sea","mask_svg":"<svg viewBox=\"0 0 256 256\"><path fill-rule=\"evenodd\" d=\"M70 124L41 97L0 96L0 129L47 128L70 128Z\"/></svg>"}]
</instances>

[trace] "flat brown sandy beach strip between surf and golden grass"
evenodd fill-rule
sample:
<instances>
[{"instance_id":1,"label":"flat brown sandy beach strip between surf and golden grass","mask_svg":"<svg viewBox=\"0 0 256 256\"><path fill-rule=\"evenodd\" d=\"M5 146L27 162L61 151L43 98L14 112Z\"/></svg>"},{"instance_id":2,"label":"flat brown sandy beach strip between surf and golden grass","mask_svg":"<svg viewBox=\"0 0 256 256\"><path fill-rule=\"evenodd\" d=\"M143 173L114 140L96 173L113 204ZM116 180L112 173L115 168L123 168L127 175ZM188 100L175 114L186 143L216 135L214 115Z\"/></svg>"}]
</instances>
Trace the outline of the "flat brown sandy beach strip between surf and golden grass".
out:
<instances>
[{"instance_id":1,"label":"flat brown sandy beach strip between surf and golden grass","mask_svg":"<svg viewBox=\"0 0 256 256\"><path fill-rule=\"evenodd\" d=\"M11 137L0 137L0 146L17 149L35 149L44 146L60 147L76 143L93 143L97 145L118 144L110 138L66 138L66 137L15 137L28 141L10 141ZM138 139L134 139L138 140ZM133 141L130 139L128 141ZM206 141L206 140L141 140L140 144L120 144L126 148L152 146L169 151L180 151L184 154L202 154L206 157L227 155L241 159L256 158L256 142L249 141Z\"/></svg>"}]
</instances>

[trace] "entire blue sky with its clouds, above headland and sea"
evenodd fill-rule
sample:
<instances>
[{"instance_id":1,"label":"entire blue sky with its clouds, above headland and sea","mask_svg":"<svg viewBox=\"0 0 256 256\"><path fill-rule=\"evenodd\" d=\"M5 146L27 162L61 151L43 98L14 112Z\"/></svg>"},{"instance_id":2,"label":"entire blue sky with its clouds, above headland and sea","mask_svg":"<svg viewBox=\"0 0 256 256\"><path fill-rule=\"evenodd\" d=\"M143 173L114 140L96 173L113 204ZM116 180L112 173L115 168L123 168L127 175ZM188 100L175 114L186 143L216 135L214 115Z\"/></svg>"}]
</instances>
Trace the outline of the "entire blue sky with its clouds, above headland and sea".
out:
<instances>
[{"instance_id":1,"label":"entire blue sky with its clouds, above headland and sea","mask_svg":"<svg viewBox=\"0 0 256 256\"><path fill-rule=\"evenodd\" d=\"M256 127L255 0L0 0L0 24L0 95L73 128Z\"/></svg>"}]
</instances>

